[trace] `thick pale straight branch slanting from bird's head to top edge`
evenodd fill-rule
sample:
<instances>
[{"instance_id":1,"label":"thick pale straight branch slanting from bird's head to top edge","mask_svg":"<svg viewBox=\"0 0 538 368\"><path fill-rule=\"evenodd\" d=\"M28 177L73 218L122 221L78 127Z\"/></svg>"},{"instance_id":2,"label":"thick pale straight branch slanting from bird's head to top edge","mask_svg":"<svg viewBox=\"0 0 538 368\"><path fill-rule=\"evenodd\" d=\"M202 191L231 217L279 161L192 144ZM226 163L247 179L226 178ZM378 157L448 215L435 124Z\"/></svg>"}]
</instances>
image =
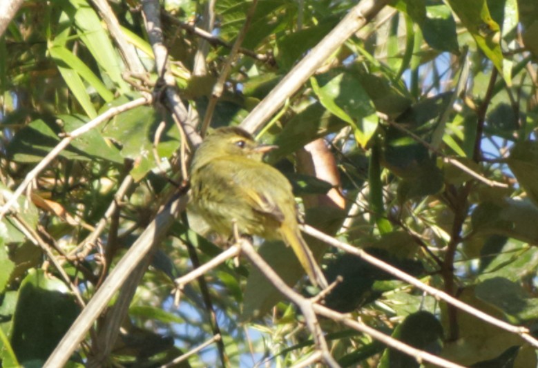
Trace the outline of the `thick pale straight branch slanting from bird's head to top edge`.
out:
<instances>
[{"instance_id":1,"label":"thick pale straight branch slanting from bird's head to top edge","mask_svg":"<svg viewBox=\"0 0 538 368\"><path fill-rule=\"evenodd\" d=\"M284 104L287 98L305 84L311 75L323 65L349 37L365 26L370 19L387 5L388 0L363 0L333 28L323 40L314 47L271 93L254 108L241 123L242 128L254 132Z\"/></svg>"}]
</instances>

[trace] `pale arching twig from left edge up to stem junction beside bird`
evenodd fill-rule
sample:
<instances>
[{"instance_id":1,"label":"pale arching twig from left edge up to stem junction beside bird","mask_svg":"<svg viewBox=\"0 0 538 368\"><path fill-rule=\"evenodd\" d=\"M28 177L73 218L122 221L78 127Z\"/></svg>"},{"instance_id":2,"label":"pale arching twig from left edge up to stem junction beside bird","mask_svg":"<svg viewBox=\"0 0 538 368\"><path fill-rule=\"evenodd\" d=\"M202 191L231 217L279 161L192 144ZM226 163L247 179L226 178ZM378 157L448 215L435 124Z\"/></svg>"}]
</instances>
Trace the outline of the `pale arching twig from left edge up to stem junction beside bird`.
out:
<instances>
[{"instance_id":1,"label":"pale arching twig from left edge up to stem junction beside bird","mask_svg":"<svg viewBox=\"0 0 538 368\"><path fill-rule=\"evenodd\" d=\"M12 209L12 206L15 204L15 202L17 202L17 198L19 198L19 196L26 190L28 184L30 184L32 180L35 180L37 175L41 173L41 171L43 171L44 168L46 168L48 164L50 164L50 162L52 162L52 159L55 159L55 157L57 157L57 155L59 155L61 151L64 151L64 149L69 146L69 144L73 141L73 139L79 137L80 135L83 135L84 133L87 133L99 124L106 122L108 119L111 119L111 117L118 115L119 113L131 110L131 108L135 108L137 106L148 104L149 102L151 102L151 96L145 95L144 97L129 101L121 106L110 108L106 110L106 113L102 113L101 115L91 120L90 122L87 122L80 128L77 128L70 133L66 133L64 139L61 139L59 144L57 144L55 148L52 148L52 151L50 151L48 155L44 157L44 159L41 159L41 162L39 162L39 164L37 164L35 168L32 168L32 170L24 178L23 182L19 184L15 192L10 195L7 202L3 204L3 206L0 208L0 220L3 218L4 215L6 215L6 213L8 213L8 211L10 211L10 209Z\"/></svg>"}]
</instances>

